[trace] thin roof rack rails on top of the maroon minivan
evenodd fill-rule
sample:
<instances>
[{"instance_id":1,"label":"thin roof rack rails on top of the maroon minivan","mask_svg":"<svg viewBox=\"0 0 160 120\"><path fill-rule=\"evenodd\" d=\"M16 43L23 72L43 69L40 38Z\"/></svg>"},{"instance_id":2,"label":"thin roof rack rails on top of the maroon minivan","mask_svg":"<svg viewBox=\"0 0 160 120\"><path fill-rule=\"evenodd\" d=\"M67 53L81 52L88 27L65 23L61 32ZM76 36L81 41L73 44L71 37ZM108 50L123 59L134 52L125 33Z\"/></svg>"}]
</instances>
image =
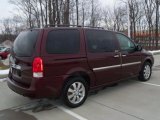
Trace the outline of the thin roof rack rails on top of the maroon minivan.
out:
<instances>
[{"instance_id":1,"label":"thin roof rack rails on top of the maroon minivan","mask_svg":"<svg viewBox=\"0 0 160 120\"><path fill-rule=\"evenodd\" d=\"M66 25L66 24L47 24L45 25L45 28L48 27L82 27L82 28L97 28L97 29L104 29L103 27L93 27L93 26L81 26L81 25Z\"/></svg>"}]
</instances>

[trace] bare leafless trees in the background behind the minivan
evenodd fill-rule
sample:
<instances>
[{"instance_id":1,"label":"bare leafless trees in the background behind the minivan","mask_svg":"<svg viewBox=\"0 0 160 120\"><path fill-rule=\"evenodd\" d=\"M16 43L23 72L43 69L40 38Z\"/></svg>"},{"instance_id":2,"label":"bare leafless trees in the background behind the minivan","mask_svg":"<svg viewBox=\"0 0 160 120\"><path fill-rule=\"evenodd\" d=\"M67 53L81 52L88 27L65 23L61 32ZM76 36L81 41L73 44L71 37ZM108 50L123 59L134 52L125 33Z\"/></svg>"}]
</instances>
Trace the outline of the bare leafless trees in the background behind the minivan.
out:
<instances>
[{"instance_id":1,"label":"bare leafless trees in the background behind the minivan","mask_svg":"<svg viewBox=\"0 0 160 120\"><path fill-rule=\"evenodd\" d=\"M131 37L147 32L148 45L158 47L160 0L117 0L114 6L102 6L100 0L10 0L17 10L13 18L2 20L3 34L18 34L24 28L47 25L80 25L128 30Z\"/></svg>"}]
</instances>

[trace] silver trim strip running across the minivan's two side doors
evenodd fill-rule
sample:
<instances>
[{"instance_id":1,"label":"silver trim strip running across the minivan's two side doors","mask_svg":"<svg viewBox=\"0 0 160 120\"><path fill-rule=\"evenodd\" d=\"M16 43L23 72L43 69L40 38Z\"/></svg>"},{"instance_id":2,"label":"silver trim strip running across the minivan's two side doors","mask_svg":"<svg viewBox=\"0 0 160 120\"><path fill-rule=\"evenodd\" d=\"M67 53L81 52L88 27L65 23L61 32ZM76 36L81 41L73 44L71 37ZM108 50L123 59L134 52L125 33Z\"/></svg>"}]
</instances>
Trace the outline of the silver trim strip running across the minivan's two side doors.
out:
<instances>
[{"instance_id":1,"label":"silver trim strip running across the minivan's two side doors","mask_svg":"<svg viewBox=\"0 0 160 120\"><path fill-rule=\"evenodd\" d=\"M139 61L139 62L133 62L133 63L126 63L126 64L122 64L122 65L112 65L112 66L106 66L106 67L93 68L93 71L118 68L118 67L121 67L121 66L125 67L125 66L137 65L137 64L141 64L141 61Z\"/></svg>"}]
</instances>

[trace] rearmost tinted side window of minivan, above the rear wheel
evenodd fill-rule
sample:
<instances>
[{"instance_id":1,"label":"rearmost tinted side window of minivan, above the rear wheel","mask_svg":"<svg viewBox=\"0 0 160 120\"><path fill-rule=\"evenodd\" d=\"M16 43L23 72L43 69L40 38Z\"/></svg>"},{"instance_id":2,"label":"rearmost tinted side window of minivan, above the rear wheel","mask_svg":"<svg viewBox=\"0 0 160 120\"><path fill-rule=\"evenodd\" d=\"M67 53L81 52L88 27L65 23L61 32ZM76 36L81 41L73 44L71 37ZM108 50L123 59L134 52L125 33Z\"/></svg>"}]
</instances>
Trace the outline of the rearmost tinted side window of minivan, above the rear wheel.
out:
<instances>
[{"instance_id":1,"label":"rearmost tinted side window of minivan, above the rear wheel","mask_svg":"<svg viewBox=\"0 0 160 120\"><path fill-rule=\"evenodd\" d=\"M46 51L49 54L76 54L80 50L78 30L53 30L49 32Z\"/></svg>"}]
</instances>

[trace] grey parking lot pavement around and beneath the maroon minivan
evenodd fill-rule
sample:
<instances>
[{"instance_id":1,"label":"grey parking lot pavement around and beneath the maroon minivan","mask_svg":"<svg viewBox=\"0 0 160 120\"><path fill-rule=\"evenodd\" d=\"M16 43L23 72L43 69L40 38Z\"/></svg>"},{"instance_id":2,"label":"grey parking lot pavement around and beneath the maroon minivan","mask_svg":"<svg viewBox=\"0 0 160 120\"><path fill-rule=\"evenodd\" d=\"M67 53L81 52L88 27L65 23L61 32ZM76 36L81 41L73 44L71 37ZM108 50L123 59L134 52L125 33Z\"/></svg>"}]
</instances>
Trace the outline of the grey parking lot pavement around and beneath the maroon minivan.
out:
<instances>
[{"instance_id":1,"label":"grey parking lot pavement around and beneath the maroon minivan","mask_svg":"<svg viewBox=\"0 0 160 120\"><path fill-rule=\"evenodd\" d=\"M123 81L89 95L75 109L56 100L49 101L53 106L38 112L37 100L20 96L1 82L0 120L160 120L159 93L160 55L156 55L150 81L142 83L136 78Z\"/></svg>"}]
</instances>

